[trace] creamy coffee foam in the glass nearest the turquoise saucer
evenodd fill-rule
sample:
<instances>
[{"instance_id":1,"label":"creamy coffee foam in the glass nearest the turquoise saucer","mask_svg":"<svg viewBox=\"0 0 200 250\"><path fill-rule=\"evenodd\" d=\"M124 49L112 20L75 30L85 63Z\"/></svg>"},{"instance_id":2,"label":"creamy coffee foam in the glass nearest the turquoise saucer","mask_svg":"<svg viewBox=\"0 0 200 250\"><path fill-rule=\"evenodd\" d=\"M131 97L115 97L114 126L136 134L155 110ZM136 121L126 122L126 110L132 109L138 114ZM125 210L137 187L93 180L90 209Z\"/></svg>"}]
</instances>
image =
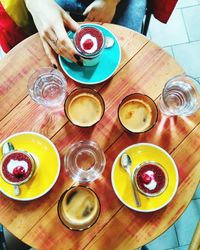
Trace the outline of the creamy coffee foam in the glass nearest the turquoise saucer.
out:
<instances>
[{"instance_id":1,"label":"creamy coffee foam in the glass nearest the turquoise saucer","mask_svg":"<svg viewBox=\"0 0 200 250\"><path fill-rule=\"evenodd\" d=\"M67 113L69 119L78 126L91 126L101 119L103 109L94 95L81 93L69 103Z\"/></svg>"}]
</instances>

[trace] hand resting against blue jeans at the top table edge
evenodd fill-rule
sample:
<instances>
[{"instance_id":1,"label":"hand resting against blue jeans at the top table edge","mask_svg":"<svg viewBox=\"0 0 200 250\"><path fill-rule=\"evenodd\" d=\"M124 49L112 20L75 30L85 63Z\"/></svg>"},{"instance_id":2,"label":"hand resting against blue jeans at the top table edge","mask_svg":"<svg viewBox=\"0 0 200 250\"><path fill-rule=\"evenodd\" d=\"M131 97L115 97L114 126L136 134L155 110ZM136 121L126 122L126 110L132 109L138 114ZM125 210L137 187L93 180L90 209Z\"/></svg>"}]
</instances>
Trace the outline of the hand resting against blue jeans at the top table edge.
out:
<instances>
[{"instance_id":1,"label":"hand resting against blue jeans at the top table edge","mask_svg":"<svg viewBox=\"0 0 200 250\"><path fill-rule=\"evenodd\" d=\"M119 0L95 0L84 11L85 21L110 23Z\"/></svg>"}]
</instances>

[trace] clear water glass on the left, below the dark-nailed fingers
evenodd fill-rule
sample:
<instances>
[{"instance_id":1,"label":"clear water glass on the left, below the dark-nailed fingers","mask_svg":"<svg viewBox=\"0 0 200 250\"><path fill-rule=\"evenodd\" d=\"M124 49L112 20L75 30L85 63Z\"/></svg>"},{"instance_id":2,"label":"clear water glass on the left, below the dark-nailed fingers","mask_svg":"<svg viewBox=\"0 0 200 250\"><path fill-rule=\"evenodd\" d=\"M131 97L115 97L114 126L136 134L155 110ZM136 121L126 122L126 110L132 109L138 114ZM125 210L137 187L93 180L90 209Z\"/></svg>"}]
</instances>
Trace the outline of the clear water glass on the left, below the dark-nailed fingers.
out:
<instances>
[{"instance_id":1,"label":"clear water glass on the left, below the dark-nailed fingers","mask_svg":"<svg viewBox=\"0 0 200 250\"><path fill-rule=\"evenodd\" d=\"M39 68L28 81L28 92L38 104L59 106L66 96L67 82L63 74L54 68Z\"/></svg>"}]
</instances>

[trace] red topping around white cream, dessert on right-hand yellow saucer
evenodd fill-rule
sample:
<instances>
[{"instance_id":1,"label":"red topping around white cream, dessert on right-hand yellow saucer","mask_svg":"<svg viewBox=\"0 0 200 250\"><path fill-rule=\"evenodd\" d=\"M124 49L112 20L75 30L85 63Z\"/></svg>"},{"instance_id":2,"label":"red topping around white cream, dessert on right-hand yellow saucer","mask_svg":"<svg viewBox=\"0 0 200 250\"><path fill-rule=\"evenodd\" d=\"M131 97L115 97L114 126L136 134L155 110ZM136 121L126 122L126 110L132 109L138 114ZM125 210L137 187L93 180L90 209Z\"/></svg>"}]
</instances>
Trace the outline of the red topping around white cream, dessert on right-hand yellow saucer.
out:
<instances>
[{"instance_id":1,"label":"red topping around white cream, dessert on right-hand yellow saucer","mask_svg":"<svg viewBox=\"0 0 200 250\"><path fill-rule=\"evenodd\" d=\"M147 174L147 171L153 172L153 177ZM150 178L150 181L149 181ZM165 186L166 178L163 170L154 164L146 164L142 166L136 176L136 181L138 187L145 193L155 194L159 193L161 189ZM145 185L150 184L151 181L156 182L154 189L150 189Z\"/></svg>"}]
</instances>

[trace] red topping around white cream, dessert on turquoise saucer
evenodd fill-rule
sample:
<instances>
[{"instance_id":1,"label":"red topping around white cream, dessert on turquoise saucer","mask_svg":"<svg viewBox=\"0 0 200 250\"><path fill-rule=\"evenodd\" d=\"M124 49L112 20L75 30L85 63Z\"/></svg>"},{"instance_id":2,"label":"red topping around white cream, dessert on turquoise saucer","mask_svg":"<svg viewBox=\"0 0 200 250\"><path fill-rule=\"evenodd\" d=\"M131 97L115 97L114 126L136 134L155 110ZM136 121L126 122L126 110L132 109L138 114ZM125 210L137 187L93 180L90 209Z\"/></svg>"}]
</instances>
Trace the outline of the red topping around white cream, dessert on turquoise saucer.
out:
<instances>
[{"instance_id":1,"label":"red topping around white cream, dessert on turquoise saucer","mask_svg":"<svg viewBox=\"0 0 200 250\"><path fill-rule=\"evenodd\" d=\"M89 49L92 48L93 41L91 39L87 39L84 42L84 44L86 43L86 47L84 47L84 45L83 45L83 48L81 47L81 39L86 34L89 34L89 35L91 35L92 37L94 37L96 39L96 41L97 41L97 49L93 53L98 52L103 46L104 39L103 39L103 35L102 35L101 31L96 29L96 28L93 28L93 27L82 27L80 31L76 32L75 42L76 42L77 48L80 51L82 51L83 53L87 53L85 50L89 50ZM87 43L88 43L88 45L87 45Z\"/></svg>"}]
</instances>

